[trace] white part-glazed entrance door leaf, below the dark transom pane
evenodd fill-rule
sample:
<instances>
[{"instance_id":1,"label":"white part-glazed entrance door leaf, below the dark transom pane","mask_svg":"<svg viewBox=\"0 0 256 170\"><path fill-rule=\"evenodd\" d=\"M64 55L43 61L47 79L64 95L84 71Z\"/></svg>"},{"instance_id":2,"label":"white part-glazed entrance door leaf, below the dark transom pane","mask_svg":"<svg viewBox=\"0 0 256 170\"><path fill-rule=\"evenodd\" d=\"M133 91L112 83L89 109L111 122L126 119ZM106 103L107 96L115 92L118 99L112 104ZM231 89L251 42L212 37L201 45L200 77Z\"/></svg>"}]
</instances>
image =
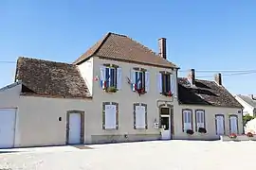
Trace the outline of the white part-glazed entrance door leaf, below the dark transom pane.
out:
<instances>
[{"instance_id":1,"label":"white part-glazed entrance door leaf, below the dark transom pane","mask_svg":"<svg viewBox=\"0 0 256 170\"><path fill-rule=\"evenodd\" d=\"M170 140L171 139L171 119L170 115L161 115L161 135L162 140Z\"/></svg>"}]
</instances>

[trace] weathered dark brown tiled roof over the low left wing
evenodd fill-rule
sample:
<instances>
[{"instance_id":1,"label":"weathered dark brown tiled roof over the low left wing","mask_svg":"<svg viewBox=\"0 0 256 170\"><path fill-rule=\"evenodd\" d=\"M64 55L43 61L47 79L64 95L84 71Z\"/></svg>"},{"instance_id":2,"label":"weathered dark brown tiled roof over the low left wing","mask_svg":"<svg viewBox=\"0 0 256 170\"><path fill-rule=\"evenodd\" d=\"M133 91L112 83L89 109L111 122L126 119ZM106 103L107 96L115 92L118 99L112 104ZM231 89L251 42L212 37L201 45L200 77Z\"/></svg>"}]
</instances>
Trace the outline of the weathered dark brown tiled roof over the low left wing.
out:
<instances>
[{"instance_id":1,"label":"weathered dark brown tiled roof over the low left wing","mask_svg":"<svg viewBox=\"0 0 256 170\"><path fill-rule=\"evenodd\" d=\"M88 97L88 89L76 65L43 59L19 58L16 79L36 94Z\"/></svg>"}]
</instances>

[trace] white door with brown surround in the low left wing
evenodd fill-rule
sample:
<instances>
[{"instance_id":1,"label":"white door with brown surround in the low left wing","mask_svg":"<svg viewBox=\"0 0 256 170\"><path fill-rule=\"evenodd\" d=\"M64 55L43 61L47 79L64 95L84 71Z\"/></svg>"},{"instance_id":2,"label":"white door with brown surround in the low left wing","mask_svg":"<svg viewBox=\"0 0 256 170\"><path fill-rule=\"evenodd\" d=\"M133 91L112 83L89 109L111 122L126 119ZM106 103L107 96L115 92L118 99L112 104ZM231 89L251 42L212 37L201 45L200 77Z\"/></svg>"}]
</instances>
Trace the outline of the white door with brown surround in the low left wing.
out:
<instances>
[{"instance_id":1,"label":"white door with brown surround in the low left wing","mask_svg":"<svg viewBox=\"0 0 256 170\"><path fill-rule=\"evenodd\" d=\"M81 114L70 113L68 144L80 144L80 143L81 143Z\"/></svg>"}]
</instances>

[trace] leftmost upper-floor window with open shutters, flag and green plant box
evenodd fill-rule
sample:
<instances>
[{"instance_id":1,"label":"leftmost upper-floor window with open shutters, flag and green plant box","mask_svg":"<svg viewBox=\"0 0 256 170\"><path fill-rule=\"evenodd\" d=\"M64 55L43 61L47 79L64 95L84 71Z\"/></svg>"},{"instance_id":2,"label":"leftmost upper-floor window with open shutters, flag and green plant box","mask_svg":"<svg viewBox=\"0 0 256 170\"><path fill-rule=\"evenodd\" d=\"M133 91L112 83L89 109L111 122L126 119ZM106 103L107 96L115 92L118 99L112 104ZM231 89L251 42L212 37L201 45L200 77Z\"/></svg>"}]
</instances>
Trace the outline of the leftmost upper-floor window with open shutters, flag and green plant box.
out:
<instances>
[{"instance_id":1,"label":"leftmost upper-floor window with open shutters, flag and green plant box","mask_svg":"<svg viewBox=\"0 0 256 170\"><path fill-rule=\"evenodd\" d=\"M101 67L101 88L117 88L120 89L121 84L121 68L116 65L106 64Z\"/></svg>"}]
</instances>

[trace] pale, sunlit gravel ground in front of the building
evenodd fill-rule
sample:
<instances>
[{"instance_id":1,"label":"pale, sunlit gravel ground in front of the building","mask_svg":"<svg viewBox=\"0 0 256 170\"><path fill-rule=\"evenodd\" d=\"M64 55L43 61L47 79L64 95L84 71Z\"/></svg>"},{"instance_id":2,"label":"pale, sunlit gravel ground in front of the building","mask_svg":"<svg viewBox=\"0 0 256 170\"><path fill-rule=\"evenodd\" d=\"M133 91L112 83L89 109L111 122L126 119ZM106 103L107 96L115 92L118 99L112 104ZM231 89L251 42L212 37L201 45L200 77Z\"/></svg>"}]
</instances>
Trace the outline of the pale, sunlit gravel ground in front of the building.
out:
<instances>
[{"instance_id":1,"label":"pale, sunlit gravel ground in front of the building","mask_svg":"<svg viewBox=\"0 0 256 170\"><path fill-rule=\"evenodd\" d=\"M256 142L165 141L0 150L0 170L256 169ZM13 151L13 152L10 152Z\"/></svg>"}]
</instances>

